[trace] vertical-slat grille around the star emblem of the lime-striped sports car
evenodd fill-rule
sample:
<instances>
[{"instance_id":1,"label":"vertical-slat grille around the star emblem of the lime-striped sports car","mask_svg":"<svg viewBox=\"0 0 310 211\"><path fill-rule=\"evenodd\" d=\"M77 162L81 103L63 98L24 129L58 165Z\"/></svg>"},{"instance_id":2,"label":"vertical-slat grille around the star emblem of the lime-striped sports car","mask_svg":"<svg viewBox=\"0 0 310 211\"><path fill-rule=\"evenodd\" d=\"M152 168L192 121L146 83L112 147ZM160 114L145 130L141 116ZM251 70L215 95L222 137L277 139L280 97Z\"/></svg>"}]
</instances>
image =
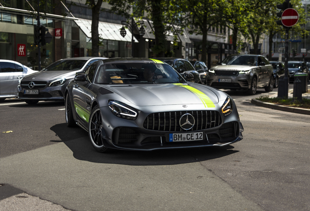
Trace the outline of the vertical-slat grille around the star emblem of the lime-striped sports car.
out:
<instances>
[{"instance_id":1,"label":"vertical-slat grille around the star emblem of the lime-striped sports car","mask_svg":"<svg viewBox=\"0 0 310 211\"><path fill-rule=\"evenodd\" d=\"M179 120L183 114L190 113L194 116L195 124L190 130L180 127ZM217 111L171 111L150 114L144 121L145 129L157 131L186 132L213 128L221 125L222 119Z\"/></svg>"}]
</instances>

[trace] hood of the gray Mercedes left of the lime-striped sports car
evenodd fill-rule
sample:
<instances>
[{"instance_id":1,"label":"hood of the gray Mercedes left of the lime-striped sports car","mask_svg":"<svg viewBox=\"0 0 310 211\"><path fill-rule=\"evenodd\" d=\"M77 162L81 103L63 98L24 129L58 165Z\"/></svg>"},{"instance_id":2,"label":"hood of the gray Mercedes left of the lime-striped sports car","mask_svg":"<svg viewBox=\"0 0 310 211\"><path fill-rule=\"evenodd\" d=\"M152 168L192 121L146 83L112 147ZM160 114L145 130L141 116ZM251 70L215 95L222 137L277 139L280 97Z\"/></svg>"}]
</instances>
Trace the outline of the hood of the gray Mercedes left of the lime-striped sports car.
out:
<instances>
[{"instance_id":1,"label":"hood of the gray Mercedes left of the lime-striped sports car","mask_svg":"<svg viewBox=\"0 0 310 211\"><path fill-rule=\"evenodd\" d=\"M52 81L58 78L71 79L74 78L78 71L38 71L23 78L23 81Z\"/></svg>"}]
</instances>

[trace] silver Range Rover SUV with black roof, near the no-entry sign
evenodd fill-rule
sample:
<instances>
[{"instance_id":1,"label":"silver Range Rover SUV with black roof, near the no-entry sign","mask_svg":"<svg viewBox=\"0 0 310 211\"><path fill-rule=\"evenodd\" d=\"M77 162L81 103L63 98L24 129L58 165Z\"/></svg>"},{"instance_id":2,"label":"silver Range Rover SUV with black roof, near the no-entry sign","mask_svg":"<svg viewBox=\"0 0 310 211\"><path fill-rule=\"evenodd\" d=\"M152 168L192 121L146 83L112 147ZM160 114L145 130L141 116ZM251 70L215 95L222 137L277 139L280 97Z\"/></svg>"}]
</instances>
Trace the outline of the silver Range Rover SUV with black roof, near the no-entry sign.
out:
<instances>
[{"instance_id":1,"label":"silver Range Rover SUV with black roof, near the no-entry sign","mask_svg":"<svg viewBox=\"0 0 310 211\"><path fill-rule=\"evenodd\" d=\"M207 85L232 90L246 89L249 94L257 88L273 90L273 70L261 55L230 55L220 65L209 69Z\"/></svg>"}]
</instances>

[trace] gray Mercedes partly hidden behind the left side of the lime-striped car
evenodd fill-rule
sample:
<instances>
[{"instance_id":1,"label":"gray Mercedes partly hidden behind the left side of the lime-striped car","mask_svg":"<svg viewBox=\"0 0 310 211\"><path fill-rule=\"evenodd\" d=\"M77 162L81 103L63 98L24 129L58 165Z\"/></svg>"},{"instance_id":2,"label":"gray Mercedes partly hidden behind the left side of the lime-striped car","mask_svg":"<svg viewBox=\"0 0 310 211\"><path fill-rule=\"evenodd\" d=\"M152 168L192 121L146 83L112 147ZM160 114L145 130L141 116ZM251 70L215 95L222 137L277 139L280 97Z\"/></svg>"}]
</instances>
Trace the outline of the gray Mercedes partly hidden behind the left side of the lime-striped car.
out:
<instances>
[{"instance_id":1,"label":"gray Mercedes partly hidden behind the left side of the lime-striped car","mask_svg":"<svg viewBox=\"0 0 310 211\"><path fill-rule=\"evenodd\" d=\"M58 60L41 71L24 77L19 85L20 100L27 104L39 101L63 101L66 86L77 73L83 72L102 57L77 57Z\"/></svg>"}]
</instances>

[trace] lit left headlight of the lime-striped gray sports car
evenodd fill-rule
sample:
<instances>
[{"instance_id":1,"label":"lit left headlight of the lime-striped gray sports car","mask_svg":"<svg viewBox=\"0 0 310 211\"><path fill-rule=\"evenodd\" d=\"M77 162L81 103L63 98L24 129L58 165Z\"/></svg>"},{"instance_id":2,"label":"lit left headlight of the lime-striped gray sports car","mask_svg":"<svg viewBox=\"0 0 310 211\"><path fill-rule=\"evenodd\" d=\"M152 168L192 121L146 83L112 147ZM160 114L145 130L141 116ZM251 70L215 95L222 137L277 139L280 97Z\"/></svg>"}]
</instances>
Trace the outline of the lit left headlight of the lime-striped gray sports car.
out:
<instances>
[{"instance_id":1,"label":"lit left headlight of the lime-striped gray sports car","mask_svg":"<svg viewBox=\"0 0 310 211\"><path fill-rule=\"evenodd\" d=\"M112 113L119 118L135 120L138 116L138 113L133 108L118 101L109 100L108 105Z\"/></svg>"}]
</instances>

